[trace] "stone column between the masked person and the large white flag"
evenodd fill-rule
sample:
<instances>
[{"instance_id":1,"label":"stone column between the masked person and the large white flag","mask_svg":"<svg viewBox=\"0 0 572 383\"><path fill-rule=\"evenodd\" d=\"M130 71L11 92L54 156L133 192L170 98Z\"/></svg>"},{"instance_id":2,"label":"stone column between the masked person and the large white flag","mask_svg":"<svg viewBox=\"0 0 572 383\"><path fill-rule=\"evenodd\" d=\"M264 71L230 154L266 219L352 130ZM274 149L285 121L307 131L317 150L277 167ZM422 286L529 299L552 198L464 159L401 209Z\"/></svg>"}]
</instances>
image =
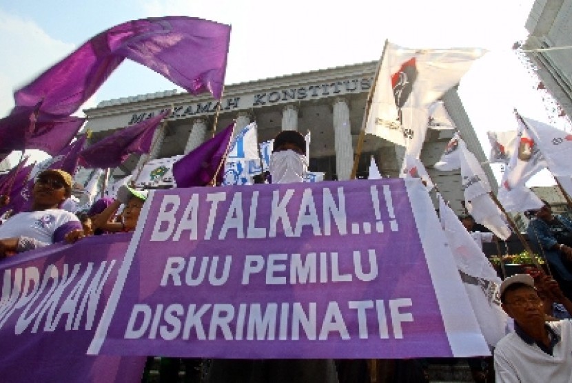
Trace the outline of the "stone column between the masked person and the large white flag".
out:
<instances>
[{"instance_id":1,"label":"stone column between the masked person and the large white flag","mask_svg":"<svg viewBox=\"0 0 572 383\"><path fill-rule=\"evenodd\" d=\"M334 101L334 147L338 180L349 180L354 166L354 148L351 146L349 107L342 97Z\"/></svg>"}]
</instances>

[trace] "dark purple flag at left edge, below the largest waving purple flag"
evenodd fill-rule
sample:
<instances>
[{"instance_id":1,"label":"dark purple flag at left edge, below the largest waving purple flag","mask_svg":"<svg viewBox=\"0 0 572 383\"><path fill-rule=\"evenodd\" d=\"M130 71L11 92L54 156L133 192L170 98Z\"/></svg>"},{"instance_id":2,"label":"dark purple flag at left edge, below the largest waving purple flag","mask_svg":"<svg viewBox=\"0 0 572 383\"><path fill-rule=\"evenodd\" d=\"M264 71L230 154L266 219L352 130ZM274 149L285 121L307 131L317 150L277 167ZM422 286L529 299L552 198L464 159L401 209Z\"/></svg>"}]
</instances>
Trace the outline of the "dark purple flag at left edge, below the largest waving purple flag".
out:
<instances>
[{"instance_id":1,"label":"dark purple flag at left edge, below the largest waving purple flag","mask_svg":"<svg viewBox=\"0 0 572 383\"><path fill-rule=\"evenodd\" d=\"M0 120L0 153L40 149L54 156L72 141L85 122L85 118L38 112L39 105L14 107L10 115Z\"/></svg>"}]
</instances>

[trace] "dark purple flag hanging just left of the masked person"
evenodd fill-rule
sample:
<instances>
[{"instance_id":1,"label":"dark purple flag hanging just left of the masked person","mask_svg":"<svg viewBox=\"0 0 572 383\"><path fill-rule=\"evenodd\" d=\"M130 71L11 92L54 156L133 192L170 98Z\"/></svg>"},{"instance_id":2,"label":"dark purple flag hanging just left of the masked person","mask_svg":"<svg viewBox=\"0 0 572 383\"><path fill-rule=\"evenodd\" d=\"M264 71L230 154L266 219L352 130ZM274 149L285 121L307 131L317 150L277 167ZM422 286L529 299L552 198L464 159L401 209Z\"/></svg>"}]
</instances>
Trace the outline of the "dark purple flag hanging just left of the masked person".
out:
<instances>
[{"instance_id":1,"label":"dark purple flag hanging just left of the masked person","mask_svg":"<svg viewBox=\"0 0 572 383\"><path fill-rule=\"evenodd\" d=\"M173 164L173 176L177 187L208 185L215 174L218 183L222 182L224 169L218 167L225 160L233 128L234 123L228 125L221 133Z\"/></svg>"}]
</instances>

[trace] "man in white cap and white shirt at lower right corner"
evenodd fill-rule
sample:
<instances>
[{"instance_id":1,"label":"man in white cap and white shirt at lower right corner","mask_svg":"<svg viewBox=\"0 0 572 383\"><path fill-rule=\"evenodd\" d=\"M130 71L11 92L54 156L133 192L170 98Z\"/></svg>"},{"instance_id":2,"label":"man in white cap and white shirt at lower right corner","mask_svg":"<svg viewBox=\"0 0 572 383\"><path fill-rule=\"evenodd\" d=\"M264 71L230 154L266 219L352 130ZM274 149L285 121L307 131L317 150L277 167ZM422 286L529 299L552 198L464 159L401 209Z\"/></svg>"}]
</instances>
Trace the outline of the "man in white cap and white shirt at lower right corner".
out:
<instances>
[{"instance_id":1,"label":"man in white cap and white shirt at lower right corner","mask_svg":"<svg viewBox=\"0 0 572 383\"><path fill-rule=\"evenodd\" d=\"M554 280L544 281L544 291L572 309ZM505 279L500 301L515 331L496 345L496 382L572 382L572 322L546 322L534 279L528 274Z\"/></svg>"}]
</instances>

